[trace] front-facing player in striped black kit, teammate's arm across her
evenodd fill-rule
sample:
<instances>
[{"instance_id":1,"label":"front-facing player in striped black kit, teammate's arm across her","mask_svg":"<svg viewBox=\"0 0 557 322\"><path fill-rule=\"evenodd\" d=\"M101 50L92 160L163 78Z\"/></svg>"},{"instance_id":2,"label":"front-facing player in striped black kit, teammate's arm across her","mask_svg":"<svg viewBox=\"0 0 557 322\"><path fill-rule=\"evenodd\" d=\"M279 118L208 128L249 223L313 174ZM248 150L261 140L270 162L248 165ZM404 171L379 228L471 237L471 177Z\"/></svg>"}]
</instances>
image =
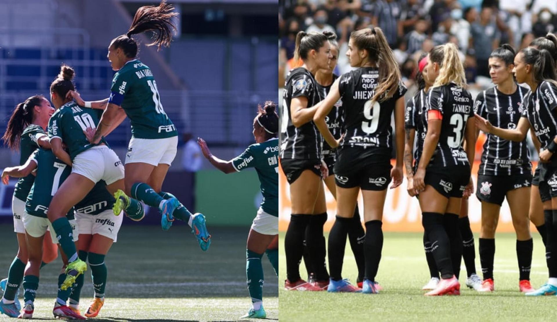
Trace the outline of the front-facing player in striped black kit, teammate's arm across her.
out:
<instances>
[{"instance_id":1,"label":"front-facing player in striped black kit, teammate's arm across her","mask_svg":"<svg viewBox=\"0 0 557 322\"><path fill-rule=\"evenodd\" d=\"M482 118L501 128L514 129L520 120L522 99L527 90L518 86L512 75L515 51L510 45L494 50L489 58L491 80L495 84L476 97L474 109ZM479 131L479 130L478 130ZM520 143L488 134L478 169L476 196L482 203L480 262L483 282L480 291L494 290L493 264L495 231L505 197L509 203L516 232L519 262L519 289L530 292L530 267L534 244L530 235L530 186L532 169L526 138Z\"/></svg>"}]
</instances>

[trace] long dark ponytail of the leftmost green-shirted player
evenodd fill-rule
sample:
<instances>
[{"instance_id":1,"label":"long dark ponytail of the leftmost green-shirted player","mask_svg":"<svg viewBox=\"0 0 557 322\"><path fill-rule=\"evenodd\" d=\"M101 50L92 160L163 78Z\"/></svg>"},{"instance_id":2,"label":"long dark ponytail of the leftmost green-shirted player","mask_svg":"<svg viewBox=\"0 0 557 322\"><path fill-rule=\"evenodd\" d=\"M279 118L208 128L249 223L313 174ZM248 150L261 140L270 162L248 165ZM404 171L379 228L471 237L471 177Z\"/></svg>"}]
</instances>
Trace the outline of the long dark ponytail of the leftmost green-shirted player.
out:
<instances>
[{"instance_id":1,"label":"long dark ponytail of the leftmost green-shirted player","mask_svg":"<svg viewBox=\"0 0 557 322\"><path fill-rule=\"evenodd\" d=\"M9 118L6 132L2 136L4 144L10 149L17 150L19 148L19 139L21 139L23 130L33 121L35 106L41 105L44 99L45 97L42 95L35 95L17 104Z\"/></svg>"}]
</instances>

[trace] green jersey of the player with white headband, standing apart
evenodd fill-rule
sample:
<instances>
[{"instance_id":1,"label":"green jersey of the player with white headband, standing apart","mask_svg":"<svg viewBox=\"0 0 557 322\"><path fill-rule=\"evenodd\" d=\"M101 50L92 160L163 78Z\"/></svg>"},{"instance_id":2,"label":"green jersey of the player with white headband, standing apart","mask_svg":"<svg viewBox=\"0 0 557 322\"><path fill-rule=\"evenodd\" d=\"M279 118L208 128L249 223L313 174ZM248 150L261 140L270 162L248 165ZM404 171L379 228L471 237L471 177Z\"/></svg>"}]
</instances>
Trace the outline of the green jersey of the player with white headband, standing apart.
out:
<instances>
[{"instance_id":1,"label":"green jersey of the player with white headband, standing apart","mask_svg":"<svg viewBox=\"0 0 557 322\"><path fill-rule=\"evenodd\" d=\"M261 208L266 213L278 217L278 139L250 145L232 160L232 165L236 171L255 168L263 194Z\"/></svg>"}]
</instances>

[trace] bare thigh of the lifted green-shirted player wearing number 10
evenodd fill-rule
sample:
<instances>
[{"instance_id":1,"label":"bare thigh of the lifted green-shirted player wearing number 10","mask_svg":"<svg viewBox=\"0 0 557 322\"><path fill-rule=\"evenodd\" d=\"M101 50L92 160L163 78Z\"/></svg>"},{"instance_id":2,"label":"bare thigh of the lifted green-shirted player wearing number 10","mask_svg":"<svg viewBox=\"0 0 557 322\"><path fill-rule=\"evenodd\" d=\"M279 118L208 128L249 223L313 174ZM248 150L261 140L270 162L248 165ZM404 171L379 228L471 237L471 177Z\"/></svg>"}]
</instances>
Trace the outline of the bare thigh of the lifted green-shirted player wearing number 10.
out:
<instances>
[{"instance_id":1,"label":"bare thigh of the lifted green-shirted player wearing number 10","mask_svg":"<svg viewBox=\"0 0 557 322\"><path fill-rule=\"evenodd\" d=\"M66 214L80 202L95 186L95 182L81 174L71 173L56 191L50 206L48 206L48 219L51 222Z\"/></svg>"}]
</instances>

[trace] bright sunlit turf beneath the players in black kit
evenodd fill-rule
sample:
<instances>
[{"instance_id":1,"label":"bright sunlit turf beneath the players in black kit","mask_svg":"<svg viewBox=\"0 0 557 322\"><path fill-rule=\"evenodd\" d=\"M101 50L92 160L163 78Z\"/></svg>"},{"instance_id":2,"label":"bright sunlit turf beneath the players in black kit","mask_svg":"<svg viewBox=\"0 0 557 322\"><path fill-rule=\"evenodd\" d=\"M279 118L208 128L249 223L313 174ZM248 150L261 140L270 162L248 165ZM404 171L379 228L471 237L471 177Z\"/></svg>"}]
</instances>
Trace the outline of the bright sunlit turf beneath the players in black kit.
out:
<instances>
[{"instance_id":1,"label":"bright sunlit turf beneath the players in black kit","mask_svg":"<svg viewBox=\"0 0 557 322\"><path fill-rule=\"evenodd\" d=\"M538 232L534 235L532 286L539 287L547 279L545 251ZM327 292L285 291L286 258L280 254L280 314L284 321L555 321L557 296L526 298L518 291L518 267L515 235L496 236L495 292L478 294L465 286L466 270L462 264L461 296L426 297L421 288L429 280L423 252L422 234L385 233L383 257L377 281L384 287L380 294L330 294ZM476 234L477 243L477 234ZM348 244L348 243L347 243ZM284 234L280 244L284 245ZM480 270L477 255L476 269ZM305 278L305 267L301 265ZM349 245L343 268L344 278L355 282L357 269ZM478 274L481 276L481 274Z\"/></svg>"}]
</instances>

